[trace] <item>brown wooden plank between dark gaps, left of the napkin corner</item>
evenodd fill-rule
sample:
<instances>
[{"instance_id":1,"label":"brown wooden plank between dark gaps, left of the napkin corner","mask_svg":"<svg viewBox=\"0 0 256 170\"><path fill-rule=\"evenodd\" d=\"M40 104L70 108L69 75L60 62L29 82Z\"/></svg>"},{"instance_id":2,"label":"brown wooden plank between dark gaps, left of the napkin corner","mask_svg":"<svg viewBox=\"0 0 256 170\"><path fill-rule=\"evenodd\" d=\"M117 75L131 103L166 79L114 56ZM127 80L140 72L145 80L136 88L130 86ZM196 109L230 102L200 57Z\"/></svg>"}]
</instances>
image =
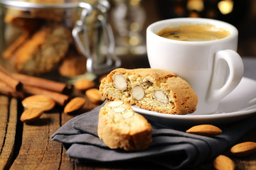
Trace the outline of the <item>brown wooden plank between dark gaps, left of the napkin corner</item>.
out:
<instances>
[{"instance_id":1,"label":"brown wooden plank between dark gaps, left of the napkin corner","mask_svg":"<svg viewBox=\"0 0 256 170\"><path fill-rule=\"evenodd\" d=\"M23 123L22 143L11 169L58 169L61 145L50 140L60 127L60 113L44 113L31 124Z\"/></svg>"}]
</instances>

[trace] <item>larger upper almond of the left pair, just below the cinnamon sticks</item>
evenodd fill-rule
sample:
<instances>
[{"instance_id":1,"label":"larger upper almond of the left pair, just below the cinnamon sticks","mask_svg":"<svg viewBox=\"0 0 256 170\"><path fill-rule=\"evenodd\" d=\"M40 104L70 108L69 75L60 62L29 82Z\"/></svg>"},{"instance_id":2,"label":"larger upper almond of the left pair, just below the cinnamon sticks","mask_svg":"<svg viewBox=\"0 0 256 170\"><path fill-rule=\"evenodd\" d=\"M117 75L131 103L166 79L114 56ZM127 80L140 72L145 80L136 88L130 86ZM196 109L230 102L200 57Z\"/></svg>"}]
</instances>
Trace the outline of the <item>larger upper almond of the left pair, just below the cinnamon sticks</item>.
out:
<instances>
[{"instance_id":1,"label":"larger upper almond of the left pair, just below the cinnamon sticks","mask_svg":"<svg viewBox=\"0 0 256 170\"><path fill-rule=\"evenodd\" d=\"M55 101L48 96L33 95L21 101L24 108L41 108L43 111L50 111L55 106Z\"/></svg>"}]
</instances>

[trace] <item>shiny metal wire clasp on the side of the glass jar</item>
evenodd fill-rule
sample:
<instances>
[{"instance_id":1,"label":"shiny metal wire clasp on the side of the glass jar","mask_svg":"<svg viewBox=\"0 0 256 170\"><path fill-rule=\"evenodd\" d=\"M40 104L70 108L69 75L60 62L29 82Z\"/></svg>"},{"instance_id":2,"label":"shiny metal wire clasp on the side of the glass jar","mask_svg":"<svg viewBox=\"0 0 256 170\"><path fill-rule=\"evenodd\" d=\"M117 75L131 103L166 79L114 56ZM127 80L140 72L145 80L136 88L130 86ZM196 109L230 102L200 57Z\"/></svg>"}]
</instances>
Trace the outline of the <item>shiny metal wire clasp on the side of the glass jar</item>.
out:
<instances>
[{"instance_id":1,"label":"shiny metal wire clasp on the side of the glass jar","mask_svg":"<svg viewBox=\"0 0 256 170\"><path fill-rule=\"evenodd\" d=\"M114 55L114 36L112 29L107 22L107 11L110 4L106 0L100 0L94 6L82 6L80 20L76 22L73 29L73 38L83 55L87 56L87 70L95 74L110 72L112 69L120 67L121 60ZM92 44L88 38L90 28L86 26L86 17L91 15L93 10L97 10L97 21L91 27L93 29ZM82 38L80 38L80 36ZM84 43L82 43L84 40Z\"/></svg>"}]
</instances>

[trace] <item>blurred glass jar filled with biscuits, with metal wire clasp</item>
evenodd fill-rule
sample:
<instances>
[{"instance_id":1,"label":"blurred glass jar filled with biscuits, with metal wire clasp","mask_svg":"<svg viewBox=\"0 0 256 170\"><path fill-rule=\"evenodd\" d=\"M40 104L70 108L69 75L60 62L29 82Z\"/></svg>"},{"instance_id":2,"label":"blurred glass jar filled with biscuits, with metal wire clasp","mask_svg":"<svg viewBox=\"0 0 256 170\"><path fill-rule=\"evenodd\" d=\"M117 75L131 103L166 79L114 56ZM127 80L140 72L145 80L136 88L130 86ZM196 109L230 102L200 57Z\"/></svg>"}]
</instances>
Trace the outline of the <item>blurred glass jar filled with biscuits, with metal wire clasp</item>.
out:
<instances>
[{"instance_id":1,"label":"blurred glass jar filled with biscuits, with metal wire clasp","mask_svg":"<svg viewBox=\"0 0 256 170\"><path fill-rule=\"evenodd\" d=\"M53 79L119 67L109 8L107 0L0 0L1 64Z\"/></svg>"}]
</instances>

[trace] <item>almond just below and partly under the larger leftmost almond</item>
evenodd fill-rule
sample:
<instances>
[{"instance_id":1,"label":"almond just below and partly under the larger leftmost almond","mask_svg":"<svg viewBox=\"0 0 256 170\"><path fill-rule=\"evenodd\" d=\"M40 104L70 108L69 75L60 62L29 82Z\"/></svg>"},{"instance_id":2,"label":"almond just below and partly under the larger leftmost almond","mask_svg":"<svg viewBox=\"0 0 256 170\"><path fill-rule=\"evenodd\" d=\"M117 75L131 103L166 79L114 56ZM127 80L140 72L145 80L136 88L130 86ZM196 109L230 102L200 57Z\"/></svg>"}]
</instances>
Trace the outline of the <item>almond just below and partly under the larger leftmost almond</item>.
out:
<instances>
[{"instance_id":1,"label":"almond just below and partly under the larger leftmost almond","mask_svg":"<svg viewBox=\"0 0 256 170\"><path fill-rule=\"evenodd\" d=\"M43 114L43 109L41 108L28 108L21 114L21 122L23 123L32 123L35 120L38 120Z\"/></svg>"}]
</instances>

